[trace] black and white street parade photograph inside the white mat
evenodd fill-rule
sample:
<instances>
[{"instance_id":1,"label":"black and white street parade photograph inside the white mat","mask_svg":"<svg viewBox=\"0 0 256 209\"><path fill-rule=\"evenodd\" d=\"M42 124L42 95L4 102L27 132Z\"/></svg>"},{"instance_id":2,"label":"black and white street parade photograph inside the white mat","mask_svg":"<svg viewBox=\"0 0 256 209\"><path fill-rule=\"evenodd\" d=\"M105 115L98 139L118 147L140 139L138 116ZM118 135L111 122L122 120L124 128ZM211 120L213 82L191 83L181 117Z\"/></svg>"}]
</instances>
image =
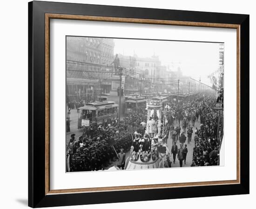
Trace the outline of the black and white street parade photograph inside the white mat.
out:
<instances>
[{"instance_id":1,"label":"black and white street parade photograph inside the white mat","mask_svg":"<svg viewBox=\"0 0 256 209\"><path fill-rule=\"evenodd\" d=\"M67 172L218 166L224 43L66 36Z\"/></svg>"}]
</instances>

